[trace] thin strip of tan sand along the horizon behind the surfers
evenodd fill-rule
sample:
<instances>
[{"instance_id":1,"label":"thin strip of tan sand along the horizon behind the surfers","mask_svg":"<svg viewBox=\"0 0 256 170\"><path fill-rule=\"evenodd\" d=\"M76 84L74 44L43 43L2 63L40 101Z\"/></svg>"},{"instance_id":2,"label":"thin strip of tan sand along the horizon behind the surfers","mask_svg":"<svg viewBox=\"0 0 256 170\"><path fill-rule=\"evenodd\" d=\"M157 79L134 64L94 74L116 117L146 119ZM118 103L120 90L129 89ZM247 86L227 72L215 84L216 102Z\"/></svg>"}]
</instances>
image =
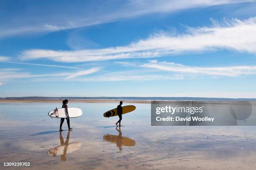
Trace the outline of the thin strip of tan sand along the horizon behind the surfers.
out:
<instances>
[{"instance_id":1,"label":"thin strip of tan sand along the horizon behind the surfers","mask_svg":"<svg viewBox=\"0 0 256 170\"><path fill-rule=\"evenodd\" d=\"M120 100L69 100L69 102L88 102L88 103L107 103L107 102L116 102ZM19 102L19 103L61 103L62 100L0 100L0 103L3 102ZM123 100L123 102L129 103L151 103L151 101L146 100Z\"/></svg>"}]
</instances>

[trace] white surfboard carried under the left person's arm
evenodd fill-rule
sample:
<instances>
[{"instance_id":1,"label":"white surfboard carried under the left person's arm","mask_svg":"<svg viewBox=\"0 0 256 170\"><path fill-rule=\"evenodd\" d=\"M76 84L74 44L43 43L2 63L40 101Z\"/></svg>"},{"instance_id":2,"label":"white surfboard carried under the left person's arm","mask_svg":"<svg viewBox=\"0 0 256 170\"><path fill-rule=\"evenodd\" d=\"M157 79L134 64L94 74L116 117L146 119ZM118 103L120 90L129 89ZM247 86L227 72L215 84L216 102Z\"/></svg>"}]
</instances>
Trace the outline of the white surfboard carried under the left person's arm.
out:
<instances>
[{"instance_id":1,"label":"white surfboard carried under the left person's arm","mask_svg":"<svg viewBox=\"0 0 256 170\"><path fill-rule=\"evenodd\" d=\"M68 107L68 111L69 111L69 118L79 117L79 116L82 116L83 114L82 110L77 107ZM58 110L51 110L48 113L48 115L54 118L67 118L67 113L65 108L60 108Z\"/></svg>"}]
</instances>

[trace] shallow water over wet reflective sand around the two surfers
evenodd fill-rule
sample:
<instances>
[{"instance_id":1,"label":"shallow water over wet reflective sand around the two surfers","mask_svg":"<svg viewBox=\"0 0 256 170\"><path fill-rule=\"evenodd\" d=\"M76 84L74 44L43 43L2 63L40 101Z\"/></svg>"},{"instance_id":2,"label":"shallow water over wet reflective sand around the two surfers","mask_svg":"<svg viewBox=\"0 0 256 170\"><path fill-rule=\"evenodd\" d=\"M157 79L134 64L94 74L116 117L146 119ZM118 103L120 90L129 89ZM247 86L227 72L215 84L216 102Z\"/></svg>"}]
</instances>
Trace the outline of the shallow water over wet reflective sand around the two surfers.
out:
<instances>
[{"instance_id":1,"label":"shallow water over wet reflective sand around the two surfers","mask_svg":"<svg viewBox=\"0 0 256 170\"><path fill-rule=\"evenodd\" d=\"M59 133L47 113L61 103L0 103L1 169L254 169L256 127L151 126L151 105L103 117L115 103L69 103L82 117L70 119L72 131ZM38 110L40 108L40 110ZM30 162L30 167L3 167Z\"/></svg>"}]
</instances>

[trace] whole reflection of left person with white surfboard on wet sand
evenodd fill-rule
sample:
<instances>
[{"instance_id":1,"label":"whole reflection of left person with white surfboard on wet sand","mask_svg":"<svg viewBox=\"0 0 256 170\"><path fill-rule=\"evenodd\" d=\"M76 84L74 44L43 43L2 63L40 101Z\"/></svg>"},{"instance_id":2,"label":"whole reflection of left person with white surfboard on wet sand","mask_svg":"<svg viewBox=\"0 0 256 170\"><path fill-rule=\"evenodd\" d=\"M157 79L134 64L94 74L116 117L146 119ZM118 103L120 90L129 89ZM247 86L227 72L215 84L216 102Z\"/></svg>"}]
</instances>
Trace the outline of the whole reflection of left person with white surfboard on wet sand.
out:
<instances>
[{"instance_id":1,"label":"whole reflection of left person with white surfboard on wet sand","mask_svg":"<svg viewBox=\"0 0 256 170\"><path fill-rule=\"evenodd\" d=\"M49 151L47 151L48 155L52 155L52 156L56 156L56 155L61 155L61 160L67 160L67 153L72 153L76 150L78 150L80 148L80 146L82 145L81 142L72 142L69 143L69 133L71 130L69 130L68 134L67 134L67 138L66 141L64 142L64 139L62 137L62 132L59 132L59 140L61 145L51 148L49 149Z\"/></svg>"}]
</instances>

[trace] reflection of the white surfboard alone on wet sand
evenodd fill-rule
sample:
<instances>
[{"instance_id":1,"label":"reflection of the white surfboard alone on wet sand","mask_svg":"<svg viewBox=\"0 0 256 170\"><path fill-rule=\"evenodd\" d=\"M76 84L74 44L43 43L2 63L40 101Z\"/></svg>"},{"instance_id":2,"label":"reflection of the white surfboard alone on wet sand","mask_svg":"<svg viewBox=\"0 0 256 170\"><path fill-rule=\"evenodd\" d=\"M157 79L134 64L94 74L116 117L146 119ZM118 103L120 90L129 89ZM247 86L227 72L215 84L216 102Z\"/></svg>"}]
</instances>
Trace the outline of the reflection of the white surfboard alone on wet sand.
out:
<instances>
[{"instance_id":1,"label":"reflection of the white surfboard alone on wet sand","mask_svg":"<svg viewBox=\"0 0 256 170\"><path fill-rule=\"evenodd\" d=\"M67 145L60 145L55 148L49 149L47 154L56 156L56 155L62 155L64 153L72 153L72 152L78 150L81 147L81 145L82 145L81 142L73 142L73 143L69 143Z\"/></svg>"}]
</instances>

